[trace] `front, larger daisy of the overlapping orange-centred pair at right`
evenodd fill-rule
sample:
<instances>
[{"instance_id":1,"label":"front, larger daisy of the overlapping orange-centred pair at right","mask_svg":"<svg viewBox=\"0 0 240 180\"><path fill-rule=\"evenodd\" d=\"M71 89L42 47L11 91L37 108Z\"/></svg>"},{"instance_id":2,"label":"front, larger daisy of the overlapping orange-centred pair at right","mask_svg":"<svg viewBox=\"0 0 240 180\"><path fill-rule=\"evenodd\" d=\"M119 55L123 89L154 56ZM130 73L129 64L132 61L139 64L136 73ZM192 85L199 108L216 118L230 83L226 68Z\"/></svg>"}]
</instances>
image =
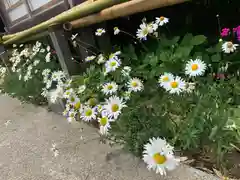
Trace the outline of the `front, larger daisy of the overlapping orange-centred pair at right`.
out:
<instances>
[{"instance_id":1,"label":"front, larger daisy of the overlapping orange-centred pair at right","mask_svg":"<svg viewBox=\"0 0 240 180\"><path fill-rule=\"evenodd\" d=\"M185 87L185 81L183 81L179 76L176 76L173 80L164 86L164 88L169 91L170 94L179 94L185 90Z\"/></svg>"}]
</instances>

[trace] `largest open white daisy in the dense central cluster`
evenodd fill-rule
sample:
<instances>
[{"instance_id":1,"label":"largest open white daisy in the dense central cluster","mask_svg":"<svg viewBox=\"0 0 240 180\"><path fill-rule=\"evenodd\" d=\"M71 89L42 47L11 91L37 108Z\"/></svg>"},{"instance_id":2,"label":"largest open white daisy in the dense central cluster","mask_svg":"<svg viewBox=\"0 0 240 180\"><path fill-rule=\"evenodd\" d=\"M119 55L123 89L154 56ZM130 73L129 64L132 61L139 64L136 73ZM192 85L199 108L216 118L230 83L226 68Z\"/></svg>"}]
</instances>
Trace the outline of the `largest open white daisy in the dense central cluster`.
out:
<instances>
[{"instance_id":1,"label":"largest open white daisy in the dense central cluster","mask_svg":"<svg viewBox=\"0 0 240 180\"><path fill-rule=\"evenodd\" d=\"M125 102L123 102L122 98L117 96L112 96L106 100L104 109L108 113L109 118L117 119L121 114L122 108L126 107Z\"/></svg>"}]
</instances>

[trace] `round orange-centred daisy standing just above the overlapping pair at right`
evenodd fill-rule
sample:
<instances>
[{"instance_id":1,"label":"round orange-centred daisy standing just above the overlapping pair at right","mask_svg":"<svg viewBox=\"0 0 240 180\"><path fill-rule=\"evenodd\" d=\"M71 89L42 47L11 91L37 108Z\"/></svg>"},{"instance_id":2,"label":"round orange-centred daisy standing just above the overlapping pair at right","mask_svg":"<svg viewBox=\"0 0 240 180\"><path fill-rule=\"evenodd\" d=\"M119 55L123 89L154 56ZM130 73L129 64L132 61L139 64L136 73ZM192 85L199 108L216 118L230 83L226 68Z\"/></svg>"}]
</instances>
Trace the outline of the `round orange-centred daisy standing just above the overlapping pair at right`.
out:
<instances>
[{"instance_id":1,"label":"round orange-centred daisy standing just above the overlapping pair at right","mask_svg":"<svg viewBox=\"0 0 240 180\"><path fill-rule=\"evenodd\" d=\"M201 59L195 59L187 62L185 74L190 77L202 76L206 71L207 65Z\"/></svg>"}]
</instances>

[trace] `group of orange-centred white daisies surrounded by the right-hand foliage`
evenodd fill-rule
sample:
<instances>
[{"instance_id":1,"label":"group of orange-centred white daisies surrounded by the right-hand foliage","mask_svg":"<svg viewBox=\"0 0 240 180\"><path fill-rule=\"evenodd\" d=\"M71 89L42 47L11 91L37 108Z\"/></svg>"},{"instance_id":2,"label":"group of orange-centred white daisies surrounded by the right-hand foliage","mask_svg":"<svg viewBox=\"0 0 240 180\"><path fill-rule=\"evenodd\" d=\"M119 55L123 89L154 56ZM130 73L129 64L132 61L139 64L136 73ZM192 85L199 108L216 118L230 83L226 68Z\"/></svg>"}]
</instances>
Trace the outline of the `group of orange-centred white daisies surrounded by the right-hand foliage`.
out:
<instances>
[{"instance_id":1,"label":"group of orange-centred white daisies surrounded by the right-hand foliage","mask_svg":"<svg viewBox=\"0 0 240 180\"><path fill-rule=\"evenodd\" d=\"M196 77L204 75L207 65L200 59L189 60L185 65L185 75ZM164 73L159 78L159 85L170 94L180 94L182 92L191 93L195 89L194 82L186 82L179 76L172 73Z\"/></svg>"}]
</instances>

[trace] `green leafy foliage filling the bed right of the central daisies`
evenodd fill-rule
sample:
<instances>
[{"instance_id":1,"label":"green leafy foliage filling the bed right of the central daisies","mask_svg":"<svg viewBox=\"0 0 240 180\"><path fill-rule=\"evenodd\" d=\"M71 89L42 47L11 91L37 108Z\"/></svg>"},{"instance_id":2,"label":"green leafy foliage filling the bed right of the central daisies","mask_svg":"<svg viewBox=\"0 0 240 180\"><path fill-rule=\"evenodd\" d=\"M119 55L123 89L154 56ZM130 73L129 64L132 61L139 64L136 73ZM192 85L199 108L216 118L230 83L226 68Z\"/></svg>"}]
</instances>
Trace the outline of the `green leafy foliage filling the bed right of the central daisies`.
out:
<instances>
[{"instance_id":1,"label":"green leafy foliage filling the bed right of the central daisies","mask_svg":"<svg viewBox=\"0 0 240 180\"><path fill-rule=\"evenodd\" d=\"M231 73L228 74L231 79L213 77L219 67L231 64L234 56L229 55L226 62L226 57L220 54L219 44L209 48L213 50L209 52L205 42L206 37L202 35L186 34L183 38L171 39L162 36L155 52L147 52L143 57L139 55L138 64L131 64L131 76L143 79L145 89L131 97L128 108L113 124L112 134L124 140L135 155L141 155L149 138L160 136L179 150L198 153L207 147L220 163L223 155L232 149L230 144L239 144L239 125L227 126L229 122L239 124L236 112L232 111L239 105L236 98L240 87L238 77L231 77ZM132 57L128 53L135 50L132 46L129 49L131 51L126 51L124 57ZM171 95L157 87L160 74L171 72L185 76L186 62L195 58L211 64L211 68L204 77L185 77L196 83L193 93Z\"/></svg>"}]
</instances>

